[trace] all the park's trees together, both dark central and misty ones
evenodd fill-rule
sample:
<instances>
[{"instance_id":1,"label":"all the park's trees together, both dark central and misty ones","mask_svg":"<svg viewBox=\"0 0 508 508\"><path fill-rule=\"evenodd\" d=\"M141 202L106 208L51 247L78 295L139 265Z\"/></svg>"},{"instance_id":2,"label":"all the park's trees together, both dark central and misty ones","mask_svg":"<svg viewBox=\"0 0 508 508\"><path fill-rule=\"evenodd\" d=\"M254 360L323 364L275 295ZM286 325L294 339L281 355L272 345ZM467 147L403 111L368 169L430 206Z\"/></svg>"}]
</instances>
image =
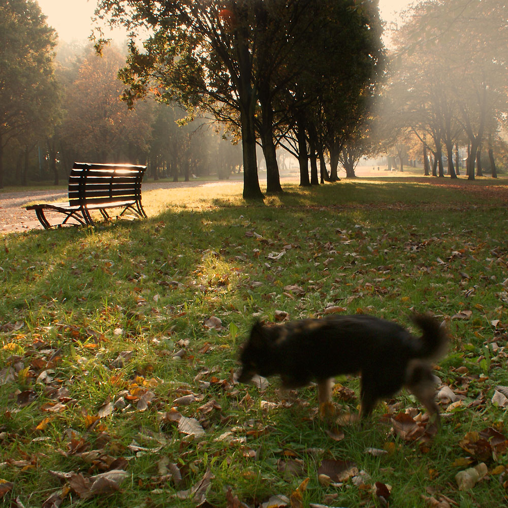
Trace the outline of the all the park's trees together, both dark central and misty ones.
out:
<instances>
[{"instance_id":1,"label":"all the park's trees together, both dark central and misty ones","mask_svg":"<svg viewBox=\"0 0 508 508\"><path fill-rule=\"evenodd\" d=\"M497 0L416 3L388 58L375 1L100 0L97 15L129 28L127 58L99 40L102 58L60 45L55 60L37 3L0 5L0 186L5 167L9 182L26 182L38 148L55 182L79 159L146 163L154 178L243 167L245 197L262 196L256 143L268 192L281 190L276 148L298 158L301 185L336 180L338 164L353 177L365 155L401 169L418 159L440 176L444 161L451 177L459 147L469 178L480 153L493 176L496 160L506 165Z\"/></svg>"}]
</instances>

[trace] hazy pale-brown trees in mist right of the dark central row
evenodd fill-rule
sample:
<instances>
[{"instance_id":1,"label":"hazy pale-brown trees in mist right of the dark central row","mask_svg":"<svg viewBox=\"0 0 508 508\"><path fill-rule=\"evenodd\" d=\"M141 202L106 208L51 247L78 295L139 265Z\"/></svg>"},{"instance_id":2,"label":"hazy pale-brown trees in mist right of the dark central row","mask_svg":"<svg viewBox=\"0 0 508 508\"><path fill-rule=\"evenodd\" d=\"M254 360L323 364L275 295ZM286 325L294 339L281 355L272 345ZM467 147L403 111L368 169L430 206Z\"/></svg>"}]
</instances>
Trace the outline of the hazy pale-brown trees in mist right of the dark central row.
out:
<instances>
[{"instance_id":1,"label":"hazy pale-brown trees in mist right of the dark central row","mask_svg":"<svg viewBox=\"0 0 508 508\"><path fill-rule=\"evenodd\" d=\"M425 174L457 177L459 147L467 147L468 179L482 157L496 176L494 148L508 112L508 23L498 0L427 0L412 7L393 34L389 79L379 125L391 153L411 153ZM504 146L503 146L504 145ZM429 154L433 167L429 165ZM483 157L485 161L487 157Z\"/></svg>"}]
</instances>

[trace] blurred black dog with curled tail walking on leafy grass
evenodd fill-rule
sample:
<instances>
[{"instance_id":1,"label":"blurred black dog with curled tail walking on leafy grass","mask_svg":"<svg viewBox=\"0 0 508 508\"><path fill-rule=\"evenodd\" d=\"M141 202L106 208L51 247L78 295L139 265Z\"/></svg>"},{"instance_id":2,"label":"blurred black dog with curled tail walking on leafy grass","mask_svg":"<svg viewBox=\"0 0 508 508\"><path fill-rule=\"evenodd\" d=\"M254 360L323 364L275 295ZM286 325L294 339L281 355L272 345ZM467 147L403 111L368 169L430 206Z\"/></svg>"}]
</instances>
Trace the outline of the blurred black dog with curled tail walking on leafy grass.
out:
<instances>
[{"instance_id":1,"label":"blurred black dog with curled tail walking on leafy grass","mask_svg":"<svg viewBox=\"0 0 508 508\"><path fill-rule=\"evenodd\" d=\"M238 381L279 374L284 388L298 388L316 380L323 404L331 400L333 376L361 372L363 417L378 399L405 387L439 422L430 360L444 352L447 333L429 315L416 314L412 321L423 331L420 338L396 323L363 314L275 326L256 323L241 351Z\"/></svg>"}]
</instances>

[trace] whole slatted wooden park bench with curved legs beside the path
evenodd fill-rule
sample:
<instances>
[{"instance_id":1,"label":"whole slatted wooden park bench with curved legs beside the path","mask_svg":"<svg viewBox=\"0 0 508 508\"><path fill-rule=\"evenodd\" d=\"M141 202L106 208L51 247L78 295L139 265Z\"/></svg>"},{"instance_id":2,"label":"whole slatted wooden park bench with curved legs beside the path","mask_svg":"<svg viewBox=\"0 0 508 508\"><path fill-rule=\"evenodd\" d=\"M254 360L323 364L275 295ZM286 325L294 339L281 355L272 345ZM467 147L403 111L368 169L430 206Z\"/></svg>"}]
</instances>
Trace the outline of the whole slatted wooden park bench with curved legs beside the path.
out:
<instances>
[{"instance_id":1,"label":"whole slatted wooden park bench with curved legs beside the path","mask_svg":"<svg viewBox=\"0 0 508 508\"><path fill-rule=\"evenodd\" d=\"M141 205L141 181L146 166L131 164L87 164L74 163L69 176L68 203L37 203L27 205L35 210L44 229L58 228L71 219L83 226L95 226L90 212L99 210L105 219L110 216L109 208L122 208L119 216L128 210L138 217L146 217ZM45 213L59 212L65 215L61 222L51 224Z\"/></svg>"}]
</instances>

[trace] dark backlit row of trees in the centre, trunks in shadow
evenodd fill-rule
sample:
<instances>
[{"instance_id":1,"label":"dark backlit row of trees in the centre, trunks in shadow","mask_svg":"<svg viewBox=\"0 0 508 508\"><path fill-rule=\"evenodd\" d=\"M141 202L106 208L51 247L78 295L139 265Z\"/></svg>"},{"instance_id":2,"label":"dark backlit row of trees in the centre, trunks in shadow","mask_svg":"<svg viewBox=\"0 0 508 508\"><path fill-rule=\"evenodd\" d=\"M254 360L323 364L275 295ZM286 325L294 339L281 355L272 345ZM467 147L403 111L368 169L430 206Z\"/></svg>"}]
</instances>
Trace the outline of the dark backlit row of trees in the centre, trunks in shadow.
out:
<instances>
[{"instance_id":1,"label":"dark backlit row of trees in the centre, trunks in shadow","mask_svg":"<svg viewBox=\"0 0 508 508\"><path fill-rule=\"evenodd\" d=\"M126 100L176 99L241 138L245 198L262 197L257 141L267 192L281 190L277 145L298 157L301 185L319 182L317 160L321 180L336 179L340 151L368 118L384 72L376 1L101 0L97 14L131 31ZM142 48L140 33L151 34Z\"/></svg>"}]
</instances>

